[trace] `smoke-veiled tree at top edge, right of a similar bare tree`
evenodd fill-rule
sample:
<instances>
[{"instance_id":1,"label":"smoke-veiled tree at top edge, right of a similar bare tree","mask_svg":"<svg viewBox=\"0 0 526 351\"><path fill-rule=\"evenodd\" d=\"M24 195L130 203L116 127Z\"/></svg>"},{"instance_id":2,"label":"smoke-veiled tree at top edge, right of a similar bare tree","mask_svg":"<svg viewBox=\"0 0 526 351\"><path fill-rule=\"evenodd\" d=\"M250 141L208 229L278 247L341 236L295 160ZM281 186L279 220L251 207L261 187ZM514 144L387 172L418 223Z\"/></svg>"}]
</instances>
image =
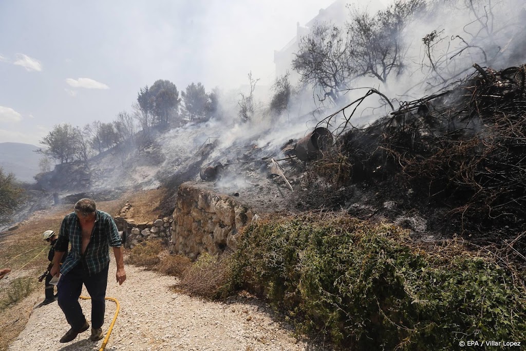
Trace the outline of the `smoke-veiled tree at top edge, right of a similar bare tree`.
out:
<instances>
[{"instance_id":1,"label":"smoke-veiled tree at top edge, right of a similar bare tree","mask_svg":"<svg viewBox=\"0 0 526 351\"><path fill-rule=\"evenodd\" d=\"M350 71L376 77L383 84L391 73L400 74L404 68L403 30L425 5L424 0L397 0L375 16L356 12L347 24Z\"/></svg>"}]
</instances>

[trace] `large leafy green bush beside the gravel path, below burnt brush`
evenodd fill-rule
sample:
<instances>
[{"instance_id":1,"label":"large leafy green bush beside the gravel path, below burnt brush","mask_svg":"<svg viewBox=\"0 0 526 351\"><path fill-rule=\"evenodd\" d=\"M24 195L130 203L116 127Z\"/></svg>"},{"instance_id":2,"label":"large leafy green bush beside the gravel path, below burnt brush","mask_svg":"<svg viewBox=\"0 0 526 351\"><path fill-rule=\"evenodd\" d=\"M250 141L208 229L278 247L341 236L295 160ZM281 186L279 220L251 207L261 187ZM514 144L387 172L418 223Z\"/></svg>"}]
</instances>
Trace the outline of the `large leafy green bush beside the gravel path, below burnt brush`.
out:
<instances>
[{"instance_id":1,"label":"large leafy green bush beside the gravel path, below burnt brush","mask_svg":"<svg viewBox=\"0 0 526 351\"><path fill-rule=\"evenodd\" d=\"M522 283L460 244L422 248L404 230L312 216L250 225L236 259L305 332L353 349L461 349L526 339Z\"/></svg>"}]
</instances>

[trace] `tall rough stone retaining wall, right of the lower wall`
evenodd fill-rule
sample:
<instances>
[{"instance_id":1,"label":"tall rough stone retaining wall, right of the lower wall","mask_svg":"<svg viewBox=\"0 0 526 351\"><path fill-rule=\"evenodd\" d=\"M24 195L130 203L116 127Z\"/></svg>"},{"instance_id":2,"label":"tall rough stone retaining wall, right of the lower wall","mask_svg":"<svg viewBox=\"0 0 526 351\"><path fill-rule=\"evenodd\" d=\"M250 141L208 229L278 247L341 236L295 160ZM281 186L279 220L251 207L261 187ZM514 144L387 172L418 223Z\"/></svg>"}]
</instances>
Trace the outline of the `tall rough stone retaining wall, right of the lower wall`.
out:
<instances>
[{"instance_id":1,"label":"tall rough stone retaining wall, right of the lower wall","mask_svg":"<svg viewBox=\"0 0 526 351\"><path fill-rule=\"evenodd\" d=\"M183 183L177 192L171 250L191 259L202 252L222 254L235 250L239 230L255 216L232 197L191 182Z\"/></svg>"}]
</instances>

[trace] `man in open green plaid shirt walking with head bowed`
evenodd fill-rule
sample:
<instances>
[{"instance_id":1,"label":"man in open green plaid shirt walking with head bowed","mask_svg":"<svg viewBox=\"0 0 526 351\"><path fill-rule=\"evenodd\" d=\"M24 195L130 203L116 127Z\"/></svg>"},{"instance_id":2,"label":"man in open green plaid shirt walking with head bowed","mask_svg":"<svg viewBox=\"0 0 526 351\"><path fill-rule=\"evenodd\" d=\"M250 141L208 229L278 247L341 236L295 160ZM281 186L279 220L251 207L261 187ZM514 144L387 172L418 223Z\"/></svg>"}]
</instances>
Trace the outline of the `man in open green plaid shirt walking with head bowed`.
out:
<instances>
[{"instance_id":1,"label":"man in open green plaid shirt walking with head bowed","mask_svg":"<svg viewBox=\"0 0 526 351\"><path fill-rule=\"evenodd\" d=\"M60 267L59 262L71 243L69 254ZM126 280L123 252L117 226L106 212L96 209L92 199L80 199L75 212L64 217L60 226L51 274L62 277L58 282L58 306L66 316L71 329L60 339L73 341L89 328L88 321L78 303L82 284L92 298L92 341L103 338L106 285L108 283L109 246L113 247L117 263L117 282Z\"/></svg>"}]
</instances>

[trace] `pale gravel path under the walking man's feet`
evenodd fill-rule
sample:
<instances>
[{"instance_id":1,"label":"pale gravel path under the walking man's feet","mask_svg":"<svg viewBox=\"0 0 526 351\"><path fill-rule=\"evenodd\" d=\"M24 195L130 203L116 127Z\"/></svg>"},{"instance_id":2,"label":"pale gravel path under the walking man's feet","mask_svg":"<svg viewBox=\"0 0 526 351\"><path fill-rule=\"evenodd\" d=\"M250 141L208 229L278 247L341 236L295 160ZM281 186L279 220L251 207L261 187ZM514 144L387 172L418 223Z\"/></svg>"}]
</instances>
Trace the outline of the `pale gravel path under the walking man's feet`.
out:
<instances>
[{"instance_id":1,"label":"pale gravel path under the walking man's feet","mask_svg":"<svg viewBox=\"0 0 526 351\"><path fill-rule=\"evenodd\" d=\"M327 350L292 336L291 329L273 319L260 300L238 297L227 303L209 302L178 294L170 289L176 278L140 267L126 266L127 280L115 280L114 260L109 268L106 296L120 303L117 322L106 350ZM83 290L83 296L88 296ZM89 300L80 300L90 320ZM115 303L107 301L103 329L115 314ZM26 328L8 350L96 350L102 340L89 341L89 330L68 344L58 339L69 329L57 303L39 307Z\"/></svg>"}]
</instances>

